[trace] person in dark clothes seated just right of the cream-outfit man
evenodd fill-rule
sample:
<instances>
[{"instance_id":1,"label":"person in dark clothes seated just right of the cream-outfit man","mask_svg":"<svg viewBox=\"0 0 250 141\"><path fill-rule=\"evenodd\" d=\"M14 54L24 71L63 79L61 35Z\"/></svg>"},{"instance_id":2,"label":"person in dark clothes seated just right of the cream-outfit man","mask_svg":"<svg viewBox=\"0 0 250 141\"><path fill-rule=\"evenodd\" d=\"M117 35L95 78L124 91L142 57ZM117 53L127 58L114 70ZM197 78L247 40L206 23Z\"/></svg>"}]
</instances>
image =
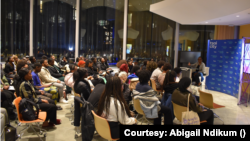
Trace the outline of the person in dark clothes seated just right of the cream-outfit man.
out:
<instances>
[{"instance_id":1,"label":"person in dark clothes seated just right of the cream-outfit man","mask_svg":"<svg viewBox=\"0 0 250 141\"><path fill-rule=\"evenodd\" d=\"M48 59L49 65L48 65L46 68L49 70L51 76L53 76L53 77L59 79L60 81L64 81L64 76L65 76L65 74L60 73L60 72L55 68L54 62L55 62L55 61L54 61L52 58L49 58L49 59Z\"/></svg>"}]
</instances>

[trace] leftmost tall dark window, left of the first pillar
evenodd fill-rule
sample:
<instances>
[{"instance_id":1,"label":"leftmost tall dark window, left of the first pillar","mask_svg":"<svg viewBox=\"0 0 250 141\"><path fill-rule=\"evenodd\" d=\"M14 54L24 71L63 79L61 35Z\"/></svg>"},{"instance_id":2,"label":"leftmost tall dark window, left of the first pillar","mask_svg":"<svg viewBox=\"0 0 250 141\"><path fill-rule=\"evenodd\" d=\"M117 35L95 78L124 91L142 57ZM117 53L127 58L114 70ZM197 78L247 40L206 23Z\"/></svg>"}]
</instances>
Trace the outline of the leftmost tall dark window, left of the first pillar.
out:
<instances>
[{"instance_id":1,"label":"leftmost tall dark window, left of the first pillar","mask_svg":"<svg viewBox=\"0 0 250 141\"><path fill-rule=\"evenodd\" d=\"M29 54L29 0L0 0L0 61Z\"/></svg>"}]
</instances>

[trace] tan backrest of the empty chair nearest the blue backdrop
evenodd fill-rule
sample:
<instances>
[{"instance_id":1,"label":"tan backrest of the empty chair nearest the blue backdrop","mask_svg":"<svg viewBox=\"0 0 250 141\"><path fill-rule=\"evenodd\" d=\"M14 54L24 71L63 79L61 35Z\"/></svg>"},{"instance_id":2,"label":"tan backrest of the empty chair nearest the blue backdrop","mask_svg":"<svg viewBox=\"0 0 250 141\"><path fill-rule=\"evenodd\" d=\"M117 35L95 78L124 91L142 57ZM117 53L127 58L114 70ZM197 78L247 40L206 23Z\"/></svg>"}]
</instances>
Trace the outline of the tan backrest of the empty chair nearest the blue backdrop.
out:
<instances>
[{"instance_id":1,"label":"tan backrest of the empty chair nearest the blue backdrop","mask_svg":"<svg viewBox=\"0 0 250 141\"><path fill-rule=\"evenodd\" d=\"M210 93L203 92L199 89L200 93L200 103L203 104L207 108L214 108L213 103L213 95Z\"/></svg>"}]
</instances>

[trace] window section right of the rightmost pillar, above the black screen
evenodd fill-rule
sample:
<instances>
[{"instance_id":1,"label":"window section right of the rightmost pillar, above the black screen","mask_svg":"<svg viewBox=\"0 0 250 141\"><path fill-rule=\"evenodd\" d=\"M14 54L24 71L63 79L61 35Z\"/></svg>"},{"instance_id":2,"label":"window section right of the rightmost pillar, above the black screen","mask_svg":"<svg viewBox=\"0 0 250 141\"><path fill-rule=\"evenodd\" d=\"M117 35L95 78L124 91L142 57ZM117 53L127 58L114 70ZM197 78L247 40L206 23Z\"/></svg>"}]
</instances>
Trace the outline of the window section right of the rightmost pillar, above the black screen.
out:
<instances>
[{"instance_id":1,"label":"window section right of the rightmost pillar, above the black screen","mask_svg":"<svg viewBox=\"0 0 250 141\"><path fill-rule=\"evenodd\" d=\"M203 62L206 63L207 41L214 39L214 28L213 25L180 25L179 51L201 52Z\"/></svg>"}]
</instances>

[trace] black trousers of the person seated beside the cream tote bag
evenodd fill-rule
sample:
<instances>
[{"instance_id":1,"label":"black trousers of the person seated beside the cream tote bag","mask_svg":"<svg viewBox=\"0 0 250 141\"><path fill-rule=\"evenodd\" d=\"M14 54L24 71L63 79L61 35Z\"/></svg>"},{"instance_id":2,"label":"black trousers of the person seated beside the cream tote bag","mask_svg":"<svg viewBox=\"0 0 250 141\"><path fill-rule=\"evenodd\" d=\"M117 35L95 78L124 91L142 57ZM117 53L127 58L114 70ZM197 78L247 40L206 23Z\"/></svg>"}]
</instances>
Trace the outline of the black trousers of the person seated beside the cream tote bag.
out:
<instances>
[{"instance_id":1,"label":"black trousers of the person seated beside the cream tote bag","mask_svg":"<svg viewBox=\"0 0 250 141\"><path fill-rule=\"evenodd\" d=\"M201 123L201 125L213 125L214 124L214 113L212 110L207 109L207 111L203 111L198 113L200 117L200 121L206 120L207 122Z\"/></svg>"}]
</instances>

